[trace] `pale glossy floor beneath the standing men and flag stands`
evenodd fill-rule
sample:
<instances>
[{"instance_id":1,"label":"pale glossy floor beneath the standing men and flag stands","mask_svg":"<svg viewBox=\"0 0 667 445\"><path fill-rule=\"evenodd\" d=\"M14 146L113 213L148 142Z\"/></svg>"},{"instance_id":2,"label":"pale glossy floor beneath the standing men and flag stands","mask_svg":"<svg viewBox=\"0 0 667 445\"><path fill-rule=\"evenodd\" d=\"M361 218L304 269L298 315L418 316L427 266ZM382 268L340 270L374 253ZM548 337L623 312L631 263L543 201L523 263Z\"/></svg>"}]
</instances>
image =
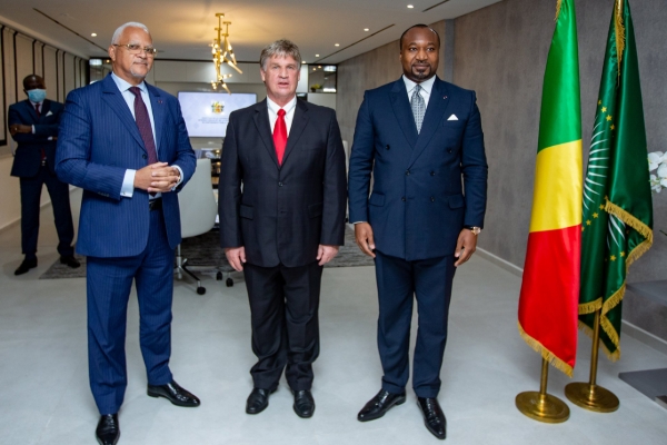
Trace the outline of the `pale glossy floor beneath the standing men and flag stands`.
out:
<instances>
[{"instance_id":1,"label":"pale glossy floor beneath the standing men and flag stands","mask_svg":"<svg viewBox=\"0 0 667 445\"><path fill-rule=\"evenodd\" d=\"M78 208L74 192L72 206ZM78 212L78 210L76 211ZM77 215L78 217L78 215ZM484 236L484 235L482 235ZM18 226L0 233L0 444L94 444L98 413L88 388L84 279L39 280L54 261L50 208L42 211L39 267L14 277ZM146 396L137 305L128 316L129 385L120 412L121 444L354 445L436 444L415 396L384 418L357 412L380 387L376 290L371 267L323 274L321 354L315 364L311 419L292 412L281 383L261 414L245 413L251 389L249 309L240 277L232 288L206 277L208 291L177 283L172 360L176 379L202 399L196 409ZM620 398L613 414L570 406L564 424L541 424L515 407L539 387L540 358L517 333L520 279L475 257L455 279L439 399L451 444L665 444L667 409L618 379L619 372L667 367L667 356L625 336L623 358L600 358L598 383ZM132 297L135 298L135 297ZM590 340L581 335L575 382L588 379ZM549 393L565 399L570 379L550 369Z\"/></svg>"}]
</instances>

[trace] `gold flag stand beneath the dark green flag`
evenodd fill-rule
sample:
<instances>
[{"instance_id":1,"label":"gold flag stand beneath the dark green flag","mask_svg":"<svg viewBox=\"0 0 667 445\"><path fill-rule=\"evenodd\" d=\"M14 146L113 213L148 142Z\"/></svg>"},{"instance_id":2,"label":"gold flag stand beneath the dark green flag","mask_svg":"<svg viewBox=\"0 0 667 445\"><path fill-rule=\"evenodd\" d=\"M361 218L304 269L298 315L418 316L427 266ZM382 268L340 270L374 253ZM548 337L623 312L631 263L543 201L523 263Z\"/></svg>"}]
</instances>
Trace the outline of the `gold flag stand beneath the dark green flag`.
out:
<instances>
[{"instance_id":1,"label":"gold flag stand beneath the dark green flag","mask_svg":"<svg viewBox=\"0 0 667 445\"><path fill-rule=\"evenodd\" d=\"M596 413L613 413L618 409L618 397L609 389L596 384L598 349L600 343L600 309L595 312L593 352L590 353L590 377L588 383L576 382L565 387L565 396L575 405Z\"/></svg>"}]
</instances>

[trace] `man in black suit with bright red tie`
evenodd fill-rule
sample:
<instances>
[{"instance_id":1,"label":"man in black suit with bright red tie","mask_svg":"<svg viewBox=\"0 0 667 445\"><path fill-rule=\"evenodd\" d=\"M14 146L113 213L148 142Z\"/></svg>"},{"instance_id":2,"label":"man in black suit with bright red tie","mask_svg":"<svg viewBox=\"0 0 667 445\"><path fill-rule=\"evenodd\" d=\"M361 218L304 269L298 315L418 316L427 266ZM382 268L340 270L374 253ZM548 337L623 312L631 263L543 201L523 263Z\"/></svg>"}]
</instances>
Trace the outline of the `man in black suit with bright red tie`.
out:
<instances>
[{"instance_id":1,"label":"man in black suit with bright red tie","mask_svg":"<svg viewBox=\"0 0 667 445\"><path fill-rule=\"evenodd\" d=\"M322 266L344 244L340 129L334 110L297 100L300 68L289 40L262 50L267 99L229 116L222 148L220 239L246 277L258 358L248 414L268 406L285 369L295 412L312 416Z\"/></svg>"}]
</instances>

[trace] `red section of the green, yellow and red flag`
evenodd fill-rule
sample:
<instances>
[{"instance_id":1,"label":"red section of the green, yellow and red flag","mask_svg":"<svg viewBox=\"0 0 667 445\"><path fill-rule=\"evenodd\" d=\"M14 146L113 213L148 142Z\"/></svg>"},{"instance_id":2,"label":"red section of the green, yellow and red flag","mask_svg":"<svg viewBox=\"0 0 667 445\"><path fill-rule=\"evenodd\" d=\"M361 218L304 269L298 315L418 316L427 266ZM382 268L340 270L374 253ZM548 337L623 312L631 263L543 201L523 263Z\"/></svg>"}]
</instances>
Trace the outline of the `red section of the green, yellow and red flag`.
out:
<instances>
[{"instance_id":1,"label":"red section of the green, yellow and red flag","mask_svg":"<svg viewBox=\"0 0 667 445\"><path fill-rule=\"evenodd\" d=\"M570 367L577 355L581 226L528 236L519 324Z\"/></svg>"}]
</instances>

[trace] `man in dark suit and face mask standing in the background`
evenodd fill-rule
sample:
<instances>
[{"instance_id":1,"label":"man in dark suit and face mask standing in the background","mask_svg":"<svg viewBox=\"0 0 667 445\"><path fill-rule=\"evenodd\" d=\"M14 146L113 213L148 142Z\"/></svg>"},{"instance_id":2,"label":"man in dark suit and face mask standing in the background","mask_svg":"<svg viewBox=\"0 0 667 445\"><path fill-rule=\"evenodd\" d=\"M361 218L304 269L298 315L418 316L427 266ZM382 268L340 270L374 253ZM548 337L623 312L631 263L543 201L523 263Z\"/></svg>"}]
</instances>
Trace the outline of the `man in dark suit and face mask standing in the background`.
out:
<instances>
[{"instance_id":1,"label":"man in dark suit and face mask standing in the background","mask_svg":"<svg viewBox=\"0 0 667 445\"><path fill-rule=\"evenodd\" d=\"M9 132L18 142L11 176L21 178L21 249L26 256L14 275L37 267L40 199L44 184L53 207L60 263L76 268L80 264L73 255L74 225L69 187L53 171L58 123L63 107L47 99L44 80L39 76L30 75L23 79L23 92L28 99L9 106L7 115Z\"/></svg>"}]
</instances>

